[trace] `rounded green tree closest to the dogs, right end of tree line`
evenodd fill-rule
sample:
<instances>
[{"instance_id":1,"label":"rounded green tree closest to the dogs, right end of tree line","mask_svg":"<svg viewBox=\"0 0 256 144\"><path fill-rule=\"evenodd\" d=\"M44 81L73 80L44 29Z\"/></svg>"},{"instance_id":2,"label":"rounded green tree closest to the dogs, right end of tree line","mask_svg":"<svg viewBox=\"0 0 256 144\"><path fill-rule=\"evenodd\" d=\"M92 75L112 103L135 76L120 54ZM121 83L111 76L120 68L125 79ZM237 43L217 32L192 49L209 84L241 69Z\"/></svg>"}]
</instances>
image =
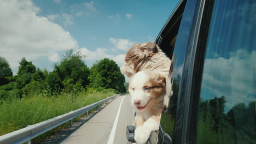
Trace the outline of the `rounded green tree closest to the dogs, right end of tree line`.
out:
<instances>
[{"instance_id":1,"label":"rounded green tree closest to the dogs, right end of tree line","mask_svg":"<svg viewBox=\"0 0 256 144\"><path fill-rule=\"evenodd\" d=\"M112 88L118 92L126 92L125 77L113 60L104 58L92 65L90 69L90 86Z\"/></svg>"}]
</instances>

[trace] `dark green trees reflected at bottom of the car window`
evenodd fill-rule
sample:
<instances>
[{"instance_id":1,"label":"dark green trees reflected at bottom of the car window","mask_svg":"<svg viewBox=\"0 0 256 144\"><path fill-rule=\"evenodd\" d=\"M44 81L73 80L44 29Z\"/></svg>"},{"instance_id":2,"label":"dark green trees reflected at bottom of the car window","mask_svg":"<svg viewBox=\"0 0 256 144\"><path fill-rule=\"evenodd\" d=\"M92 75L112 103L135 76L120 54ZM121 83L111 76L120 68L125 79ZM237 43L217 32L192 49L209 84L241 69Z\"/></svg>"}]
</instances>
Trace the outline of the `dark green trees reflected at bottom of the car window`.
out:
<instances>
[{"instance_id":1,"label":"dark green trees reflected at bottom of the car window","mask_svg":"<svg viewBox=\"0 0 256 144\"><path fill-rule=\"evenodd\" d=\"M255 143L255 101L224 112L224 96L200 100L197 143Z\"/></svg>"}]
</instances>

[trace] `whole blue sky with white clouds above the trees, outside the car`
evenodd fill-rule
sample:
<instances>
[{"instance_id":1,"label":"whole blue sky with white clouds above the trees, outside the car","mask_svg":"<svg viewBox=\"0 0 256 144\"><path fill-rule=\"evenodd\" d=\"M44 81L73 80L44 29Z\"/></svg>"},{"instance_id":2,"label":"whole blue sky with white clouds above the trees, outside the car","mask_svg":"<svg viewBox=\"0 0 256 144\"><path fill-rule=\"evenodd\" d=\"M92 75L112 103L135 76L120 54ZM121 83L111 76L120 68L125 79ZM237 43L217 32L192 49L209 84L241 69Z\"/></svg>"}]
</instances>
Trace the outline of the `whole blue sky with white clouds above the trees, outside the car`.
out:
<instances>
[{"instance_id":1,"label":"whole blue sky with white clouds above the trees, outside the car","mask_svg":"<svg viewBox=\"0 0 256 144\"><path fill-rule=\"evenodd\" d=\"M70 48L86 55L89 67L104 57L121 66L132 45L155 40L177 3L3 0L0 56L14 74L22 57L51 71Z\"/></svg>"}]
</instances>

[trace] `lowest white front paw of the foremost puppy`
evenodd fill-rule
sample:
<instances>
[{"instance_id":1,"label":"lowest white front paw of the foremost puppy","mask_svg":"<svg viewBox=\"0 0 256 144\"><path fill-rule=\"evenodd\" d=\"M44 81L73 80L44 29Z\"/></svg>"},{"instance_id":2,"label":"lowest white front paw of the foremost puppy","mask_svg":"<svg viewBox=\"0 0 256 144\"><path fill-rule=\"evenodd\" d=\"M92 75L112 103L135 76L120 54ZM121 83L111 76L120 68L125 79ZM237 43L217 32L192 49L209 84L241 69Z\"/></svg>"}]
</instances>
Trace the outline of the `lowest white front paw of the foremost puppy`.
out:
<instances>
[{"instance_id":1,"label":"lowest white front paw of the foremost puppy","mask_svg":"<svg viewBox=\"0 0 256 144\"><path fill-rule=\"evenodd\" d=\"M138 144L144 144L148 141L151 131L145 127L135 129L134 139Z\"/></svg>"}]
</instances>

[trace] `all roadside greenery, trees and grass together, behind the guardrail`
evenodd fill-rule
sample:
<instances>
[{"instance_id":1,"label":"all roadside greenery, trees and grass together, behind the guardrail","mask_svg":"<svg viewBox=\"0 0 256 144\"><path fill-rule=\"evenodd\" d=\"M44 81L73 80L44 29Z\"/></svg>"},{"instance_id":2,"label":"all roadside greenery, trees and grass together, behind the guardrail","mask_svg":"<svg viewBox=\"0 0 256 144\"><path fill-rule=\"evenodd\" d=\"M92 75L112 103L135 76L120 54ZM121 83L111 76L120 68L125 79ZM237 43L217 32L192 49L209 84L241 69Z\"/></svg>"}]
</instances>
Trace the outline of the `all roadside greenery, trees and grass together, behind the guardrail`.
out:
<instances>
[{"instance_id":1,"label":"all roadside greenery, trees and grass together, behind the guardrail","mask_svg":"<svg viewBox=\"0 0 256 144\"><path fill-rule=\"evenodd\" d=\"M21 58L15 76L8 62L0 57L0 135L125 91L124 76L114 61L103 59L89 69L84 57L80 52L67 50L50 73ZM44 139L53 131L40 137Z\"/></svg>"}]
</instances>

